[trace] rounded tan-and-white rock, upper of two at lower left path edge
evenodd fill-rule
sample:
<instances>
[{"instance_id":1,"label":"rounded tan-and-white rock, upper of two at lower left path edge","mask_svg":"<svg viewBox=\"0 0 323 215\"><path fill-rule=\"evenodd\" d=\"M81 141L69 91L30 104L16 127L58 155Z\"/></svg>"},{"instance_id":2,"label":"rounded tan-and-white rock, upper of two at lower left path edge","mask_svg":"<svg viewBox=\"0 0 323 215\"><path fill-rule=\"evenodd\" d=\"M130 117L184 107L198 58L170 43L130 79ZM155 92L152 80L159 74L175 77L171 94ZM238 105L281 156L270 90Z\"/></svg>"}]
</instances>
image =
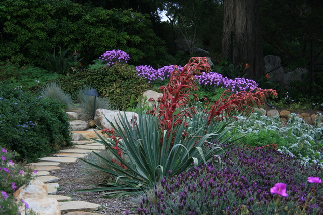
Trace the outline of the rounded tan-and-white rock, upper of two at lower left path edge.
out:
<instances>
[{"instance_id":1,"label":"rounded tan-and-white rock, upper of two at lower left path edge","mask_svg":"<svg viewBox=\"0 0 323 215\"><path fill-rule=\"evenodd\" d=\"M27 199L27 198L47 198L47 186L40 180L32 180L28 185L20 187L14 192L14 198Z\"/></svg>"}]
</instances>

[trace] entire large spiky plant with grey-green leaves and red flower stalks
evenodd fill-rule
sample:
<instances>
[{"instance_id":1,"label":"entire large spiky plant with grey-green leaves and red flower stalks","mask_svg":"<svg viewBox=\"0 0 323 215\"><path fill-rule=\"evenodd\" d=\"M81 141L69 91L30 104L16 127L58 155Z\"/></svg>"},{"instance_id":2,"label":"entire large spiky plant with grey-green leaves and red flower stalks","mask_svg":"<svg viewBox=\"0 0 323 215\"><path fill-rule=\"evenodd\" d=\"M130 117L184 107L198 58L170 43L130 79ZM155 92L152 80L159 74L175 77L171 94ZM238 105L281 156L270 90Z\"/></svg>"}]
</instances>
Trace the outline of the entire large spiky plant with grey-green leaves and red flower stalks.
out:
<instances>
[{"instance_id":1,"label":"entire large spiky plant with grey-green leaves and red flower stalks","mask_svg":"<svg viewBox=\"0 0 323 215\"><path fill-rule=\"evenodd\" d=\"M226 120L230 113L245 112L251 108L250 105L260 105L267 96L276 95L273 90L261 89L228 97L223 94L209 109L197 112L195 107L187 108L186 105L189 96L197 99L191 91L197 90L195 75L201 74L201 71L210 71L207 58L191 58L182 70L176 69L171 73L166 86L160 87L163 96L157 100L153 110L139 112L131 123L121 117L121 125L112 124L112 130L102 130L111 139L99 136L98 142L103 143L115 158L109 160L93 153L114 171L82 160L115 176L116 180L100 183L100 188L79 191L106 191L104 195L107 197L139 194L153 188L164 177L207 163L214 154L222 154L231 145L219 146L234 140L225 136L230 129ZM213 139L218 140L218 144L203 150L203 146Z\"/></svg>"}]
</instances>

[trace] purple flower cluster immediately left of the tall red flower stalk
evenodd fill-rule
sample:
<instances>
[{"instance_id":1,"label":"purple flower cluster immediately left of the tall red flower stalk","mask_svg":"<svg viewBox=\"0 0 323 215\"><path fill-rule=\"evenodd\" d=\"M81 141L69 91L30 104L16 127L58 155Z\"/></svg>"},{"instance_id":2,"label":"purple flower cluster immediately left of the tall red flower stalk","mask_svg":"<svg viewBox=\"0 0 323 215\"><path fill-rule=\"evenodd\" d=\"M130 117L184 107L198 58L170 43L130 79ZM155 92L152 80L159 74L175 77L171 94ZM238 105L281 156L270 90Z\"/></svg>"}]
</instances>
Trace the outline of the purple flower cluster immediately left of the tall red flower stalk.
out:
<instances>
[{"instance_id":1,"label":"purple flower cluster immediately left of the tall red flower stalk","mask_svg":"<svg viewBox=\"0 0 323 215\"><path fill-rule=\"evenodd\" d=\"M182 70L183 68L179 66L178 69ZM158 79L163 81L164 79L170 78L171 73L175 70L175 67L174 65L169 65L156 70L150 65L141 65L137 66L136 70L138 72L139 77L147 79L148 83L150 83L151 81L156 81Z\"/></svg>"}]
</instances>

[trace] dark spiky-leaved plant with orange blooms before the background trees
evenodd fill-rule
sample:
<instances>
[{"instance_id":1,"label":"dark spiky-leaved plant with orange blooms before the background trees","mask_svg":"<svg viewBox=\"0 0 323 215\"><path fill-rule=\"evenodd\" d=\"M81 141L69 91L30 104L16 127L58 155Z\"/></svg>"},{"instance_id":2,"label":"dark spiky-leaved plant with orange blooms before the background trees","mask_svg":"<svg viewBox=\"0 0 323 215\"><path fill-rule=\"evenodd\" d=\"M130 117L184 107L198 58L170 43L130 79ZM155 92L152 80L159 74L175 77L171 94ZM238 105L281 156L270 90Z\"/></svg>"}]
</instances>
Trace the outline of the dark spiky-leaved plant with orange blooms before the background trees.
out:
<instances>
[{"instance_id":1,"label":"dark spiky-leaved plant with orange blooms before the background trees","mask_svg":"<svg viewBox=\"0 0 323 215\"><path fill-rule=\"evenodd\" d=\"M65 57L66 53L69 51L69 49L66 49L65 51L60 50L59 55L56 56L55 52L53 55L47 55L47 61L43 61L44 66L52 72L66 75L67 71L73 67L76 66L82 59L78 60L78 54L73 53L73 55L70 55L68 57Z\"/></svg>"}]
</instances>

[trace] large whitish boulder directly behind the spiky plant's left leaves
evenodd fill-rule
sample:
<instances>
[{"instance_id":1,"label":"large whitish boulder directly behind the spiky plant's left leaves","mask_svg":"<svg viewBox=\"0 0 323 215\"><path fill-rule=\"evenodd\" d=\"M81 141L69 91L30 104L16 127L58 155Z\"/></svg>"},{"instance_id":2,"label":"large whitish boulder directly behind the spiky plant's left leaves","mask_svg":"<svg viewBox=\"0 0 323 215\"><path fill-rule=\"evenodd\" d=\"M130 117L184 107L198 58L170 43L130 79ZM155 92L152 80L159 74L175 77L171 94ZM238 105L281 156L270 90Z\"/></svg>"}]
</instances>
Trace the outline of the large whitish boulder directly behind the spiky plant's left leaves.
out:
<instances>
[{"instance_id":1,"label":"large whitish boulder directly behind the spiky plant's left leaves","mask_svg":"<svg viewBox=\"0 0 323 215\"><path fill-rule=\"evenodd\" d=\"M121 126L120 120L122 117L126 117L127 121L131 124L131 120L133 117L138 118L138 114L131 111L113 111L107 109L97 109L95 112L94 121L95 124L102 127L102 128L109 128L112 129L113 127L110 123L105 119L107 118L110 122L112 122L115 126L118 124Z\"/></svg>"}]
</instances>

